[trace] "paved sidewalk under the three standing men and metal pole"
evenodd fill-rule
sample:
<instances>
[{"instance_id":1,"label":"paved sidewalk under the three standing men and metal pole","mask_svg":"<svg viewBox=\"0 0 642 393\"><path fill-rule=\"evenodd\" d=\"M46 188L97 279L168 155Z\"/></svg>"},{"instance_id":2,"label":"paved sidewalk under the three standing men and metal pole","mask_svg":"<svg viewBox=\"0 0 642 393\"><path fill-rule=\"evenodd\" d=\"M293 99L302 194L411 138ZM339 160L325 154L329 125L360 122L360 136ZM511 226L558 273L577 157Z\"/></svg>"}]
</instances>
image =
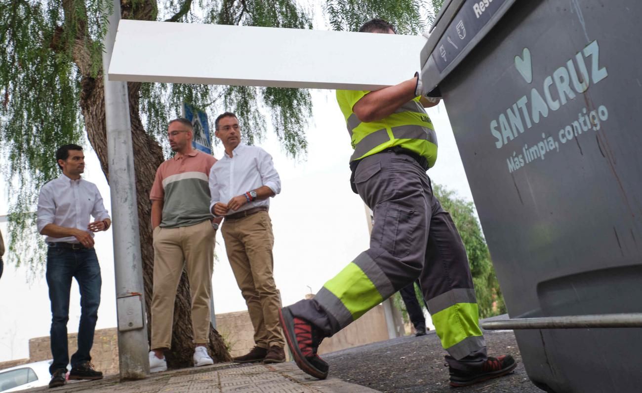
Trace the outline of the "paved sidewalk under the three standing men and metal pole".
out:
<instances>
[{"instance_id":1,"label":"paved sidewalk under the three standing men and metal pole","mask_svg":"<svg viewBox=\"0 0 642 393\"><path fill-rule=\"evenodd\" d=\"M293 362L282 364L215 364L153 374L145 380L119 381L107 376L99 381L71 381L63 387L22 390L51 393L376 393L338 378L316 380Z\"/></svg>"}]
</instances>

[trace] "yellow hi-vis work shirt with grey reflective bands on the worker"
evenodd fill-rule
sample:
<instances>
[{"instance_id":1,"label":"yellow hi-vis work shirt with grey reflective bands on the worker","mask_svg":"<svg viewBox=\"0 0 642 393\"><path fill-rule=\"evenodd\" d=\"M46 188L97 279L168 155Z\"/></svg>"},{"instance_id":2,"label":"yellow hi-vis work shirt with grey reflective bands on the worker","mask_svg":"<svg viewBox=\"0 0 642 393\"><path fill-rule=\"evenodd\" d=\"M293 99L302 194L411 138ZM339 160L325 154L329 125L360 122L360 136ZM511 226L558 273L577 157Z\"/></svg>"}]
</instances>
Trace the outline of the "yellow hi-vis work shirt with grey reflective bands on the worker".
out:
<instances>
[{"instance_id":1,"label":"yellow hi-vis work shirt with grey reflective bands on the worker","mask_svg":"<svg viewBox=\"0 0 642 393\"><path fill-rule=\"evenodd\" d=\"M403 124L404 121L408 121L410 124ZM390 126L379 130L357 130L360 126L363 128L369 123L361 122L354 113L351 113L346 119L351 140L354 140L355 134L357 134L357 137L361 137L365 133L359 142L353 144L354 153L350 157L351 161L379 153L379 151L388 147L401 146L425 156L429 167L434 165L437 158L437 135L432 130L432 123L419 102L415 100L408 101L408 103L397 108L383 122L389 123ZM429 126L412 124L413 122L423 122L429 124ZM394 126L394 124L399 124L399 126Z\"/></svg>"}]
</instances>

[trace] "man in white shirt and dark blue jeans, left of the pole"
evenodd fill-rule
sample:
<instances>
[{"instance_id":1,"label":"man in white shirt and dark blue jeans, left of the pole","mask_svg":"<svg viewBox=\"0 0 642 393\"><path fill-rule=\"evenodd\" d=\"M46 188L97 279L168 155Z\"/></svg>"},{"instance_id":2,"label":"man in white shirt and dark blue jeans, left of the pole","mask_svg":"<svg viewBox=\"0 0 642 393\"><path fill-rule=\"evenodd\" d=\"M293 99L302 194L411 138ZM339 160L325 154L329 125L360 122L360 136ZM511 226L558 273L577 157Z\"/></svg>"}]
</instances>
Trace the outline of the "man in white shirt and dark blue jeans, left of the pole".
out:
<instances>
[{"instance_id":1,"label":"man in white shirt and dark blue jeans, left of the pole","mask_svg":"<svg viewBox=\"0 0 642 393\"><path fill-rule=\"evenodd\" d=\"M100 380L103 373L94 370L91 347L100 305L100 265L94 251L94 232L106 231L111 220L103 198L94 183L83 180L85 156L82 147L68 144L56 151L62 175L46 183L38 198L38 231L46 236L47 284L51 299L51 354L49 387L65 384L69 363L67 321L71 279L80 288L80 326L78 351L71 356L70 380ZM95 221L89 222L89 215Z\"/></svg>"}]
</instances>

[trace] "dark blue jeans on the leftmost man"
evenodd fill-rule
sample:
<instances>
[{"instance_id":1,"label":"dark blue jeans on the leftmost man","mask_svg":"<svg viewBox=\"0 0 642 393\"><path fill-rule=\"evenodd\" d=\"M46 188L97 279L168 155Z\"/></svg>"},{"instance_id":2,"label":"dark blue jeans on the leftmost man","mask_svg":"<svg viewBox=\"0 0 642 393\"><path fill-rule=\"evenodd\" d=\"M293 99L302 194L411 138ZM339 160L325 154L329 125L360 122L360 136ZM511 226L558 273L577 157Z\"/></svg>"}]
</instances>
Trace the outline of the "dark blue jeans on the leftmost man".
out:
<instances>
[{"instance_id":1,"label":"dark blue jeans on the leftmost man","mask_svg":"<svg viewBox=\"0 0 642 393\"><path fill-rule=\"evenodd\" d=\"M51 244L47 251L47 284L51 299L51 355L49 372L67 368L67 321L69 321L69 292L71 278L80 287L80 326L78 351L71 356L71 367L89 362L94 344L94 329L100 305L100 265L94 249L67 249Z\"/></svg>"}]
</instances>

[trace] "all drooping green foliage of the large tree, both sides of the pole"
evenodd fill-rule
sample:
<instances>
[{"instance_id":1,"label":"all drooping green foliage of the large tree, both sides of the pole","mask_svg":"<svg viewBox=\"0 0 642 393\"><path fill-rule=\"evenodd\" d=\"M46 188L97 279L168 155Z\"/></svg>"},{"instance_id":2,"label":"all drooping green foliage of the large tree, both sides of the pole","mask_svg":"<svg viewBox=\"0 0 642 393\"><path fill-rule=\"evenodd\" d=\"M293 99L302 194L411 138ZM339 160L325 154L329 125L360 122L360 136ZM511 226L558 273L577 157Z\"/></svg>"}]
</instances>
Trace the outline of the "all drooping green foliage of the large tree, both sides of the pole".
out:
<instances>
[{"instance_id":1,"label":"all drooping green foliage of the large tree, both sides of the pole","mask_svg":"<svg viewBox=\"0 0 642 393\"><path fill-rule=\"evenodd\" d=\"M0 149L6 157L4 177L12 185L9 258L16 264L42 261L42 254L33 253L42 249L33 247L42 238L31 236L30 228L35 228L40 187L59 176L55 149L85 142L81 103L94 79L102 78L102 38L110 11L105 4L110 3L0 0ZM394 22L400 33L417 33L426 28L430 5L426 0L328 0L325 10L334 29L351 30L379 16ZM123 0L121 7L125 19L312 28L312 12L296 0ZM167 56L198 61L198 54L180 48ZM306 154L308 90L143 83L141 121L166 156L166 124L181 115L183 101L205 110L210 119L224 110L235 112L248 144L261 140L271 124L288 155Z\"/></svg>"}]
</instances>

